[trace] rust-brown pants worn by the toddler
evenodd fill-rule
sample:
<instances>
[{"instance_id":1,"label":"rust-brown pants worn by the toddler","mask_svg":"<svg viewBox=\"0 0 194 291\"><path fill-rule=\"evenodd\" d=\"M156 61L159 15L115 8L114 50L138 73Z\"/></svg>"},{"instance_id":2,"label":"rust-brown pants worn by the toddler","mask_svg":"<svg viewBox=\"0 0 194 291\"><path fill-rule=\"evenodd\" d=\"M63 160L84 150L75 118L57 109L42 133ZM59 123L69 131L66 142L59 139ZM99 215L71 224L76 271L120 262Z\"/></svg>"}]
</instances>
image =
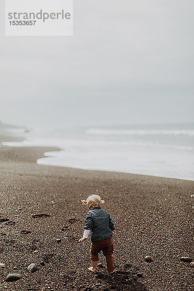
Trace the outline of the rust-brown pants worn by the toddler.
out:
<instances>
[{"instance_id":1,"label":"rust-brown pants worn by the toddler","mask_svg":"<svg viewBox=\"0 0 194 291\"><path fill-rule=\"evenodd\" d=\"M113 239L91 243L91 261L98 261L98 253L102 251L106 258L106 266L109 273L114 271L113 266Z\"/></svg>"}]
</instances>

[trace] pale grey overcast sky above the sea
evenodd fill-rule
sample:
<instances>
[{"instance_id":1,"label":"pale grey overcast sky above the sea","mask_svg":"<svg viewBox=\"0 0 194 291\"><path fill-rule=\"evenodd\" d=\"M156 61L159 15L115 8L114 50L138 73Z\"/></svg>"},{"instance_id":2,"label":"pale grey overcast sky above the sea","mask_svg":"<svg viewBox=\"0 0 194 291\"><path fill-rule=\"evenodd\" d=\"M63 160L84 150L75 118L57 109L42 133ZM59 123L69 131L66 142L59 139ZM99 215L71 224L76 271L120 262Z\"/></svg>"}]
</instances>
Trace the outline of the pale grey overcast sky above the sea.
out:
<instances>
[{"instance_id":1,"label":"pale grey overcast sky above the sea","mask_svg":"<svg viewBox=\"0 0 194 291\"><path fill-rule=\"evenodd\" d=\"M0 120L194 122L193 11L193 0L74 0L74 36L60 37L3 36L1 20Z\"/></svg>"}]
</instances>

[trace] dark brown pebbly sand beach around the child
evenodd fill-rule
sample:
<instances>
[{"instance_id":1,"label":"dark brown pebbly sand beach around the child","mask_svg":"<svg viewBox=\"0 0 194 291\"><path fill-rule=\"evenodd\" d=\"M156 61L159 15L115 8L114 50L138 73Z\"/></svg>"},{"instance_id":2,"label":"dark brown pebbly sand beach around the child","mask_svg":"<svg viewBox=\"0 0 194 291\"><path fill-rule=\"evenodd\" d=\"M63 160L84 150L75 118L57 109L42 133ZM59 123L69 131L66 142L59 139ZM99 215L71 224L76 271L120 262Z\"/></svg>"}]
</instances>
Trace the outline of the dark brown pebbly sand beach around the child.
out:
<instances>
[{"instance_id":1,"label":"dark brown pebbly sand beach around the child","mask_svg":"<svg viewBox=\"0 0 194 291\"><path fill-rule=\"evenodd\" d=\"M194 259L194 181L37 165L48 150L0 147L0 219L9 219L0 222L0 290L194 290L194 268L180 260ZM97 190L116 227L114 275L87 271L90 241L78 243L87 212L80 199ZM50 216L32 217L41 213ZM30 263L37 272L27 272ZM9 273L22 278L5 282Z\"/></svg>"}]
</instances>

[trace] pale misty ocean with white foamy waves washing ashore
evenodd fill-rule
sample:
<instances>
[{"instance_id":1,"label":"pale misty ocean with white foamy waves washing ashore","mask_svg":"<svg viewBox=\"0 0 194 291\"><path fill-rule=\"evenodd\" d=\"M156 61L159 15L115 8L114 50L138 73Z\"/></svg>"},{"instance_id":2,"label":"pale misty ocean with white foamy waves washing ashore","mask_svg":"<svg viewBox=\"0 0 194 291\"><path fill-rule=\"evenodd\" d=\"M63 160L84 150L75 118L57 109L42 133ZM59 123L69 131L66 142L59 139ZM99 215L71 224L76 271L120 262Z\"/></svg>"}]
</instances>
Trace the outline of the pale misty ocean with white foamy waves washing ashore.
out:
<instances>
[{"instance_id":1,"label":"pale misty ocean with white foamy waves washing ashore","mask_svg":"<svg viewBox=\"0 0 194 291\"><path fill-rule=\"evenodd\" d=\"M23 142L57 146L38 164L194 180L194 124L53 126L9 129Z\"/></svg>"}]
</instances>

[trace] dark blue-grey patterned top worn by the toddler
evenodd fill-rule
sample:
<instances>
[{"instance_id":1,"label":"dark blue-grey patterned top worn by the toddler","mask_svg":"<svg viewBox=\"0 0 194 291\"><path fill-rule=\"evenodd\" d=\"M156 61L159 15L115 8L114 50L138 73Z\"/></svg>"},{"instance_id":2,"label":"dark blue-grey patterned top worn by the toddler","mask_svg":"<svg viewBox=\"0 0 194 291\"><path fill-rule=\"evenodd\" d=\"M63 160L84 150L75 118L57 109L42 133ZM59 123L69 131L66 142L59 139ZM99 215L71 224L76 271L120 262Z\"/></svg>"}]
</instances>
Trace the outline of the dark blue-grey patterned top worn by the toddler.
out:
<instances>
[{"instance_id":1,"label":"dark blue-grey patterned top worn by the toddler","mask_svg":"<svg viewBox=\"0 0 194 291\"><path fill-rule=\"evenodd\" d=\"M112 238L115 229L110 214L99 206L88 211L83 228L91 229L92 242Z\"/></svg>"}]
</instances>

